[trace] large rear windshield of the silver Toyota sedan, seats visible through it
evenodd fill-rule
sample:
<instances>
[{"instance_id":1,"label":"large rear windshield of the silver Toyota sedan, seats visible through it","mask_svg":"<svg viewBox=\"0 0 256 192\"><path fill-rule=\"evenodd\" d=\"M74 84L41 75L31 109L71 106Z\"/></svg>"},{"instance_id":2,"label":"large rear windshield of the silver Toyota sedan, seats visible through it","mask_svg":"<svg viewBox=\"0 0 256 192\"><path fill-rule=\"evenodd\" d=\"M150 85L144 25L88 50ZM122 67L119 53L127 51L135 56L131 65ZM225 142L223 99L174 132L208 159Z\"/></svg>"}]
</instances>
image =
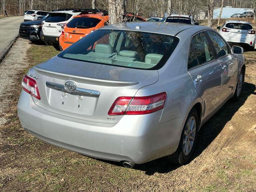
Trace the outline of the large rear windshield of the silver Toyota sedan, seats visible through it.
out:
<instances>
[{"instance_id":1,"label":"large rear windshield of the silver Toyota sedan, seats visible through it","mask_svg":"<svg viewBox=\"0 0 256 192\"><path fill-rule=\"evenodd\" d=\"M58 54L61 58L156 70L161 68L179 39L175 36L126 30L96 30Z\"/></svg>"}]
</instances>

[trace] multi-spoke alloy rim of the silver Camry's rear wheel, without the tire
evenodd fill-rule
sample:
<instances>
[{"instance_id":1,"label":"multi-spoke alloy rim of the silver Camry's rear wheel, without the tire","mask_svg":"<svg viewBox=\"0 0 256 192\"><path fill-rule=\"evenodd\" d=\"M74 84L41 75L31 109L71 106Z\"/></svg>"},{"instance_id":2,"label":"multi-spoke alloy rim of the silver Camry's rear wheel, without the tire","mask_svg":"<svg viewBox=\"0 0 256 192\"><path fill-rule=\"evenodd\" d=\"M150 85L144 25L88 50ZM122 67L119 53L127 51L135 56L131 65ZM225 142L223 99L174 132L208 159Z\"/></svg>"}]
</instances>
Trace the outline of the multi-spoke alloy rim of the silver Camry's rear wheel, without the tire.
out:
<instances>
[{"instance_id":1,"label":"multi-spoke alloy rim of the silver Camry's rear wheel, without the tire","mask_svg":"<svg viewBox=\"0 0 256 192\"><path fill-rule=\"evenodd\" d=\"M196 136L196 119L194 116L191 116L186 124L186 128L184 130L183 136L183 153L184 155L188 155L192 150L194 140Z\"/></svg>"}]
</instances>

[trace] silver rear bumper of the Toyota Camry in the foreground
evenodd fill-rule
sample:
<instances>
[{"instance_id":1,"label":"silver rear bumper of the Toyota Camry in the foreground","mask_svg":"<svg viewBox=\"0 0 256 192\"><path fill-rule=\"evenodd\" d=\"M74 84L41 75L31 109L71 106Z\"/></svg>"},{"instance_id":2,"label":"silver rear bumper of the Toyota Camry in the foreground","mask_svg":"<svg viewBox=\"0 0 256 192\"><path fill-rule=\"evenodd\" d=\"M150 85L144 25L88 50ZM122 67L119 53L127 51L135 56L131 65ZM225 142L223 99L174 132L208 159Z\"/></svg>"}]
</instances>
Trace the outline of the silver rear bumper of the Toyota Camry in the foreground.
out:
<instances>
[{"instance_id":1,"label":"silver rear bumper of the Toyota Camry in the foreground","mask_svg":"<svg viewBox=\"0 0 256 192\"><path fill-rule=\"evenodd\" d=\"M124 116L116 124L62 116L36 106L22 90L18 102L22 127L34 136L56 146L112 161L142 164L176 151L185 116L160 124L162 110L147 115Z\"/></svg>"}]
</instances>

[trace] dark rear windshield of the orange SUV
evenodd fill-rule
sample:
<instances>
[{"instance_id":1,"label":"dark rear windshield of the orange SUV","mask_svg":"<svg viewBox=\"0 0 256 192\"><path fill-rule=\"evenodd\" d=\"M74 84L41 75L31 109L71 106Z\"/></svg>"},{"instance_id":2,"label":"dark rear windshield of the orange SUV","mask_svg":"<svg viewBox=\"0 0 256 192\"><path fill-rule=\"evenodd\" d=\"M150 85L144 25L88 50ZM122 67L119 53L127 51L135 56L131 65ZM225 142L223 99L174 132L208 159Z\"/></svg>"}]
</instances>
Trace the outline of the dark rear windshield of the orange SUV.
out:
<instances>
[{"instance_id":1,"label":"dark rear windshield of the orange SUV","mask_svg":"<svg viewBox=\"0 0 256 192\"><path fill-rule=\"evenodd\" d=\"M101 20L97 18L90 18L90 17L76 17L73 18L70 22L68 22L67 27L70 28L92 28L96 27L96 25Z\"/></svg>"}]
</instances>

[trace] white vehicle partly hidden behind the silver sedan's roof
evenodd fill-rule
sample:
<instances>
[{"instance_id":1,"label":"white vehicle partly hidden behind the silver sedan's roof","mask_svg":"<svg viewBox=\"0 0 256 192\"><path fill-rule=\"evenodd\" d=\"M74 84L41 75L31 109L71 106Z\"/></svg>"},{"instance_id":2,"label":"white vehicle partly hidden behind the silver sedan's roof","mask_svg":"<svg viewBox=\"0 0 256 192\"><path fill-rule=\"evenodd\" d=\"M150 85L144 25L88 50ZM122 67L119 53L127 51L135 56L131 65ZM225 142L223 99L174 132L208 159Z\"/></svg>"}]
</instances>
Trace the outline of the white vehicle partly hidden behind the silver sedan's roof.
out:
<instances>
[{"instance_id":1,"label":"white vehicle partly hidden behind the silver sedan's roof","mask_svg":"<svg viewBox=\"0 0 256 192\"><path fill-rule=\"evenodd\" d=\"M199 25L198 22L195 22L192 15L169 15L163 22L172 22L172 23L184 23L184 24L192 24Z\"/></svg>"}]
</instances>

